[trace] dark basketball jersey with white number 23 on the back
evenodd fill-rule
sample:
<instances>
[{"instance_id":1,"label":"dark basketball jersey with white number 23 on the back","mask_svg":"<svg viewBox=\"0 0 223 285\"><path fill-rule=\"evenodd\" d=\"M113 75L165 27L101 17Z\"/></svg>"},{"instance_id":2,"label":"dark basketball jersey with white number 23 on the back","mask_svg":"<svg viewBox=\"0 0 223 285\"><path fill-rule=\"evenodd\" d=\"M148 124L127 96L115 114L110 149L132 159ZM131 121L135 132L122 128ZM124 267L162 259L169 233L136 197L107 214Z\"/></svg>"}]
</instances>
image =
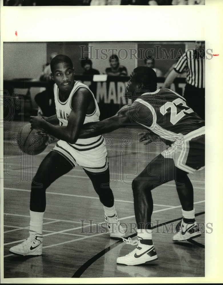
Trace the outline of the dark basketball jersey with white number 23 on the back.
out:
<instances>
[{"instance_id":1,"label":"dark basketball jersey with white number 23 on the back","mask_svg":"<svg viewBox=\"0 0 223 285\"><path fill-rule=\"evenodd\" d=\"M184 137L205 125L205 121L188 106L186 100L170 89L162 88L144 93L133 104L136 102L146 106L150 110L150 116L148 120L137 117L134 120L165 140L175 141L178 134ZM202 133L203 130L204 128Z\"/></svg>"}]
</instances>

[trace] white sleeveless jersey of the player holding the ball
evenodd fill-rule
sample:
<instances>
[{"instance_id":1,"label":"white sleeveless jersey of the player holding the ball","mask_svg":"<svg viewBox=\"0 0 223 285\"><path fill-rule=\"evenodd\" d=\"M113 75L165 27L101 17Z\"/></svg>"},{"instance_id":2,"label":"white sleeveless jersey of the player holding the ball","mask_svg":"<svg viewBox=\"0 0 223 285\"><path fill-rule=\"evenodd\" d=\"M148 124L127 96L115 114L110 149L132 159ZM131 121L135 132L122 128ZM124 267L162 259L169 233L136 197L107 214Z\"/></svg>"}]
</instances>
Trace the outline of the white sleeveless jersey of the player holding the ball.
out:
<instances>
[{"instance_id":1,"label":"white sleeveless jersey of the player holding the ball","mask_svg":"<svg viewBox=\"0 0 223 285\"><path fill-rule=\"evenodd\" d=\"M65 102L61 102L59 99L58 86L57 84L54 84L54 98L55 98L55 105L56 105L56 113L57 113L57 117L60 121L61 126L67 126L69 115L72 110L71 108L72 97L79 88L87 88L91 92L91 90L89 89L87 85L81 82L75 81L74 87L71 90L71 93L69 97L67 98L67 100ZM100 116L99 107L94 97L94 94L92 92L91 94L95 101L95 110L92 114L85 116L84 124L89 123L89 122L99 121L99 116ZM76 150L89 150L89 149L98 147L102 143L103 143L103 137L100 135L100 136L92 137L89 139L78 139L75 144L70 144L70 145L73 146Z\"/></svg>"}]
</instances>

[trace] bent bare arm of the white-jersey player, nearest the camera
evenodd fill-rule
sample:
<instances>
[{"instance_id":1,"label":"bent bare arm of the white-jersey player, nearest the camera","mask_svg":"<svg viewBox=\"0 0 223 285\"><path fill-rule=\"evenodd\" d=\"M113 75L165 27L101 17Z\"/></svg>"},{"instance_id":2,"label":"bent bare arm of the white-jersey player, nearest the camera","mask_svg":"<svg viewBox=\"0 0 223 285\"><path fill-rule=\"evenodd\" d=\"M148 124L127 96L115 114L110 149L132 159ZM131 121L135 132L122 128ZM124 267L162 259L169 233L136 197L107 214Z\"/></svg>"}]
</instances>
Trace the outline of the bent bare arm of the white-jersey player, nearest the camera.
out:
<instances>
[{"instance_id":1,"label":"bent bare arm of the white-jersey player, nearest the camera","mask_svg":"<svg viewBox=\"0 0 223 285\"><path fill-rule=\"evenodd\" d=\"M50 135L66 141L75 143L79 137L79 132L83 126L87 109L91 103L92 95L86 88L80 88L75 92L71 101L71 113L69 115L67 126L56 126L46 121L42 116L30 117L31 127L33 129L44 129Z\"/></svg>"}]
</instances>

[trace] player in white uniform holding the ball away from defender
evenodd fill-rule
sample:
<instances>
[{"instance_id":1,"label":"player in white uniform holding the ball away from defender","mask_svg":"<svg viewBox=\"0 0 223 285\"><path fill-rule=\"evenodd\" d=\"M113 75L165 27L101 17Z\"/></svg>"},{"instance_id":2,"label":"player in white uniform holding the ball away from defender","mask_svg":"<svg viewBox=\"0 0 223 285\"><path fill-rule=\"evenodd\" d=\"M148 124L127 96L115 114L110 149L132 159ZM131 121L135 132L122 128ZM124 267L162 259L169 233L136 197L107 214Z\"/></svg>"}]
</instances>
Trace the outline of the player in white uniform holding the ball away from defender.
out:
<instances>
[{"instance_id":1,"label":"player in white uniform holding the ball away from defender","mask_svg":"<svg viewBox=\"0 0 223 285\"><path fill-rule=\"evenodd\" d=\"M55 56L50 63L55 81L56 115L46 118L40 114L30 117L33 129L43 129L58 138L56 146L41 162L31 185L29 237L9 251L16 255L41 255L43 247L43 214L46 208L45 191L57 178L76 165L83 167L105 210L105 222L112 238L124 237L109 187L110 176L107 150L101 135L78 139L83 124L99 121L99 107L91 90L74 80L71 59ZM56 125L59 123L59 125ZM40 188L40 185L42 187ZM103 188L103 185L106 187Z\"/></svg>"}]
</instances>

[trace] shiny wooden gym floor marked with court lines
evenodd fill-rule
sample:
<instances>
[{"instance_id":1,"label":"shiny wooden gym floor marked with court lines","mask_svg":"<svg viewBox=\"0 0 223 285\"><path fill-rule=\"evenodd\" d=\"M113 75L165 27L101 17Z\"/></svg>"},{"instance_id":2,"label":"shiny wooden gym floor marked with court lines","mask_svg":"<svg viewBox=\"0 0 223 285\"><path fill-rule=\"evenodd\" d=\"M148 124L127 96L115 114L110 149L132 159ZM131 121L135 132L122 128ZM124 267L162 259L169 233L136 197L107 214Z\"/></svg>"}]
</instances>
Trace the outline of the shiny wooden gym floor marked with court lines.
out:
<instances>
[{"instance_id":1,"label":"shiny wooden gym floor marked with court lines","mask_svg":"<svg viewBox=\"0 0 223 285\"><path fill-rule=\"evenodd\" d=\"M104 136L118 218L126 227L126 237L132 239L136 239L132 179L162 150L162 146L153 143L148 146L138 143L137 132L140 131L120 129ZM110 239L109 234L104 233L100 225L104 222L103 205L81 167L71 170L47 189L43 255L19 257L10 254L10 247L28 237L31 180L41 160L53 148L51 144L37 156L22 156L11 142L14 133L9 130L4 137L4 278L13 282L11 278L205 275L204 233L191 242L172 242L173 231L181 219L181 206L173 182L152 190L153 242L158 260L142 266L116 265L116 258L134 247ZM194 186L196 221L204 223L204 170L189 177ZM166 223L166 228L161 223Z\"/></svg>"}]
</instances>

